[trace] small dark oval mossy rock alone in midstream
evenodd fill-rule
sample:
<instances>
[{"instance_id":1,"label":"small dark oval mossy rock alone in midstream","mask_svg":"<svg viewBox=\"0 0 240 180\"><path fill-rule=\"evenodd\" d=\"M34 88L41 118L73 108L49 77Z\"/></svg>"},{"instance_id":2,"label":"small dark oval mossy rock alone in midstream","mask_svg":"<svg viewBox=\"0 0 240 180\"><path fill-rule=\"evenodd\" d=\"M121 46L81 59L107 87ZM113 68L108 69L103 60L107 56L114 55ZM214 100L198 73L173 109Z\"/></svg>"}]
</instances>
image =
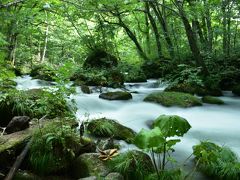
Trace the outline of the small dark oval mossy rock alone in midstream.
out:
<instances>
[{"instance_id":1,"label":"small dark oval mossy rock alone in midstream","mask_svg":"<svg viewBox=\"0 0 240 180\"><path fill-rule=\"evenodd\" d=\"M132 99L132 95L129 92L116 91L116 92L107 92L99 95L101 99L107 100L129 100Z\"/></svg>"}]
</instances>

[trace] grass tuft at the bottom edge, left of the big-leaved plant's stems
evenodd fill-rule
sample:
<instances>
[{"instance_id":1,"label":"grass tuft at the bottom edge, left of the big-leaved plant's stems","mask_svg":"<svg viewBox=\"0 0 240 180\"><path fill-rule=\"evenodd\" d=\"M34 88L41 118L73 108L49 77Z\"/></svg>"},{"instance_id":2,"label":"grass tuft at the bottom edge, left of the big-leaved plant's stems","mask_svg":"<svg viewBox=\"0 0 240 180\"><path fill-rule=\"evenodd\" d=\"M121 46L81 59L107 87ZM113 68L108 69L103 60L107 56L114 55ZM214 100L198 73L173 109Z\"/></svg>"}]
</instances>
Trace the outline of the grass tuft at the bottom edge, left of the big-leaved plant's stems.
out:
<instances>
[{"instance_id":1,"label":"grass tuft at the bottom edge, left of the big-leaved plant's stems","mask_svg":"<svg viewBox=\"0 0 240 180\"><path fill-rule=\"evenodd\" d=\"M121 153L109 161L112 171L124 175L126 180L145 179L153 172L153 167L147 154L139 151Z\"/></svg>"}]
</instances>

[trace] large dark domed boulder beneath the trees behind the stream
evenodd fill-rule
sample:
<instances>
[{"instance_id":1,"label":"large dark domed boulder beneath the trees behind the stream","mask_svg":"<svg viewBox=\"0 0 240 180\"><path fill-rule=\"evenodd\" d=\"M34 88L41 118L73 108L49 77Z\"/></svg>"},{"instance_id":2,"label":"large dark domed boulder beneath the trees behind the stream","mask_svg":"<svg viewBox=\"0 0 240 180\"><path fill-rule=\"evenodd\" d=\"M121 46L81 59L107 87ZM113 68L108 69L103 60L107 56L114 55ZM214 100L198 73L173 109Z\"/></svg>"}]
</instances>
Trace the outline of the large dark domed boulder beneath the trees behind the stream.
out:
<instances>
[{"instance_id":1,"label":"large dark domed boulder beneath the trees behind the stream","mask_svg":"<svg viewBox=\"0 0 240 180\"><path fill-rule=\"evenodd\" d=\"M115 56L101 49L92 51L85 60L84 68L112 68L118 65L118 60Z\"/></svg>"}]
</instances>

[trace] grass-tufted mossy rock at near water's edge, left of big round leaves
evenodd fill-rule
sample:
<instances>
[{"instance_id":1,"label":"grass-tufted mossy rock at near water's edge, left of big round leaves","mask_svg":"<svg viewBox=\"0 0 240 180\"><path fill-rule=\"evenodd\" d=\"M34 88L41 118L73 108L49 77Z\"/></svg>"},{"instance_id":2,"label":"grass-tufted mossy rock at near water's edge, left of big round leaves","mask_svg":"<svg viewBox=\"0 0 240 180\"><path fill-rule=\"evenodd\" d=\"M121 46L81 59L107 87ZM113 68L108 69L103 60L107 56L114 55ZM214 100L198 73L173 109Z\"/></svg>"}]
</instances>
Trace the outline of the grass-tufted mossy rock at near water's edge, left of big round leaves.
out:
<instances>
[{"instance_id":1,"label":"grass-tufted mossy rock at near water's edge, left of big round leaves","mask_svg":"<svg viewBox=\"0 0 240 180\"><path fill-rule=\"evenodd\" d=\"M101 118L92 120L87 126L88 131L97 137L113 137L114 139L132 142L136 133L115 120Z\"/></svg>"}]
</instances>

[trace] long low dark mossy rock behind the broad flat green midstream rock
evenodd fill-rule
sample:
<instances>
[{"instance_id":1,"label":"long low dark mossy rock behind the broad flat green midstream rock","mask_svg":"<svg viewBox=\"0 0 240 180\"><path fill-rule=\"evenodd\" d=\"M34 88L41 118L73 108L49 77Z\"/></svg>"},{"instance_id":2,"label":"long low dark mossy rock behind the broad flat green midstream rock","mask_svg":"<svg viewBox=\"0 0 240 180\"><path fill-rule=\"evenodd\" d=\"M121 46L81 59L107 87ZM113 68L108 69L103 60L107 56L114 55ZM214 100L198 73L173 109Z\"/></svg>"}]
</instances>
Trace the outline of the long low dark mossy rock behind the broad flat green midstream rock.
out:
<instances>
[{"instance_id":1,"label":"long low dark mossy rock behind the broad flat green midstream rock","mask_svg":"<svg viewBox=\"0 0 240 180\"><path fill-rule=\"evenodd\" d=\"M188 83L180 83L180 84L174 84L170 85L165 89L167 92L183 92L183 93L189 93L189 94L197 94L200 96L221 96L222 91L220 88L207 88L204 86L198 86L198 85L191 85Z\"/></svg>"}]
</instances>

